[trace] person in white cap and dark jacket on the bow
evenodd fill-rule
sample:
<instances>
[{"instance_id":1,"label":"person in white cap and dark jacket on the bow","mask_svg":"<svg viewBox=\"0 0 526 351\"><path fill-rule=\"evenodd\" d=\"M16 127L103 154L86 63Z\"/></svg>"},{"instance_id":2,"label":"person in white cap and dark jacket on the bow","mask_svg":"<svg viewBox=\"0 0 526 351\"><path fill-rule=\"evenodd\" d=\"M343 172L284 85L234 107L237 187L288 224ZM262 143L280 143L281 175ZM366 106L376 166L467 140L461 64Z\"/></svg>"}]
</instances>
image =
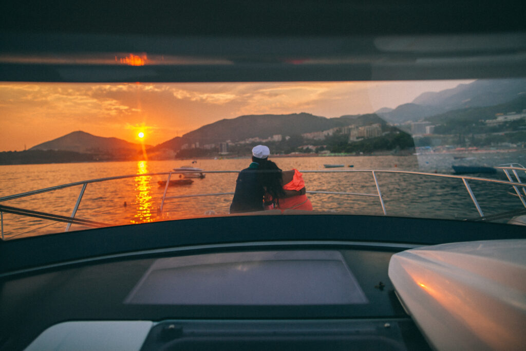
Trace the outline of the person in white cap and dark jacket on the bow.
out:
<instances>
[{"instance_id":1,"label":"person in white cap and dark jacket on the bow","mask_svg":"<svg viewBox=\"0 0 526 351\"><path fill-rule=\"evenodd\" d=\"M252 148L252 163L237 176L230 213L264 210L265 189L258 180L257 171L260 165L267 161L269 155L270 149L265 145Z\"/></svg>"}]
</instances>

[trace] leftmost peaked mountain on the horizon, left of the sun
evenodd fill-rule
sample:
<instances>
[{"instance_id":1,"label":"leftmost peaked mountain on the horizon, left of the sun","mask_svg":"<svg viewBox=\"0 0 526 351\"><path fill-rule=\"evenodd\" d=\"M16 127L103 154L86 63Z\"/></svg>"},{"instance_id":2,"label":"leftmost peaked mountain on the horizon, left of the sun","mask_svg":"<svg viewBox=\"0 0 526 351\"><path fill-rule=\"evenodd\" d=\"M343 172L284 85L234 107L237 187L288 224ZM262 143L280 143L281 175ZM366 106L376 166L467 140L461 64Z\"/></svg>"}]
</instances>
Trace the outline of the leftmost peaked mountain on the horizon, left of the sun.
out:
<instances>
[{"instance_id":1,"label":"leftmost peaked mountain on the horizon, left of the sun","mask_svg":"<svg viewBox=\"0 0 526 351\"><path fill-rule=\"evenodd\" d=\"M150 147L145 145L145 147ZM52 141L38 144L29 150L60 150L78 153L136 153L142 149L140 144L129 143L123 139L105 138L86 132L76 131Z\"/></svg>"}]
</instances>

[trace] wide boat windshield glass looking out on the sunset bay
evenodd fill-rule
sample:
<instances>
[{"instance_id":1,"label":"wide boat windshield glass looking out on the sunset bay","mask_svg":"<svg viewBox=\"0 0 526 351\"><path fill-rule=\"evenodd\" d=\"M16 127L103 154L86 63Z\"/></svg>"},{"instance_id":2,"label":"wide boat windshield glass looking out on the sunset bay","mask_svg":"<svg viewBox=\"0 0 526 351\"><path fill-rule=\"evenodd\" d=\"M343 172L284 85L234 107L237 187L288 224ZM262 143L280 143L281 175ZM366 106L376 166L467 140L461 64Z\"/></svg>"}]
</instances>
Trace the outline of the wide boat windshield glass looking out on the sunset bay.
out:
<instances>
[{"instance_id":1,"label":"wide boat windshield glass looking out on the sunset bay","mask_svg":"<svg viewBox=\"0 0 526 351\"><path fill-rule=\"evenodd\" d=\"M264 210L524 222L526 79L9 82L0 111L3 239ZM257 145L299 172L253 179L255 209Z\"/></svg>"}]
</instances>

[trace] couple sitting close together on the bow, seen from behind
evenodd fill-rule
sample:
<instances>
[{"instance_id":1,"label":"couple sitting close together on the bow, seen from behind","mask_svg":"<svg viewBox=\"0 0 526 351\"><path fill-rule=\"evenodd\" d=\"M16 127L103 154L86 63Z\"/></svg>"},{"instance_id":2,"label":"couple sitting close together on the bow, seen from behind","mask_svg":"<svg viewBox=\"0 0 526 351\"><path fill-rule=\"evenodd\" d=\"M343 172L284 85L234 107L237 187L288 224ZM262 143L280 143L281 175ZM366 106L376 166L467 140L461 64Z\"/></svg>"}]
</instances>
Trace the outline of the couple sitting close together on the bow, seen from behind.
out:
<instances>
[{"instance_id":1,"label":"couple sitting close together on the bow, seen from behind","mask_svg":"<svg viewBox=\"0 0 526 351\"><path fill-rule=\"evenodd\" d=\"M230 213L254 212L264 209L312 210L305 195L305 182L297 169L281 171L268 161L270 150L258 145L252 148L252 163L239 172Z\"/></svg>"}]
</instances>

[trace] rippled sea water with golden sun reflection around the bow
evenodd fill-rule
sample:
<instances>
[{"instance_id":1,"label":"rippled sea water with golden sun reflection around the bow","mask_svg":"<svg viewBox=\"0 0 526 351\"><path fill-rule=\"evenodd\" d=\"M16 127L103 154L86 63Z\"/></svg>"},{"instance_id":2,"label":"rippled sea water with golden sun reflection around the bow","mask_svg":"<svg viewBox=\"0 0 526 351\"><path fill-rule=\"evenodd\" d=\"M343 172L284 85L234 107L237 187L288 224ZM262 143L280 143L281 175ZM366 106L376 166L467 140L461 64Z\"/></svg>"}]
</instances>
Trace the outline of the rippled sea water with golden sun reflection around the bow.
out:
<instances>
[{"instance_id":1,"label":"rippled sea water with golden sun reflection around the bow","mask_svg":"<svg viewBox=\"0 0 526 351\"><path fill-rule=\"evenodd\" d=\"M464 157L456 159L454 157ZM526 153L434 154L421 156L276 157L282 169L322 170L324 164L342 164L336 170L383 169L395 171L451 174L452 164L498 165L517 162L526 165ZM250 163L242 159L204 159L192 166L207 171L240 170ZM0 166L0 197L93 178L118 175L169 172L190 165L189 161L139 161ZM349 167L352 165L353 167ZM484 175L475 175L484 176ZM505 179L502 173L489 175ZM173 175L177 177L177 175ZM207 173L188 186L169 187L167 196L234 192L237 174ZM76 217L113 225L145 223L159 219L226 215L232 195L167 199L159 216L166 175L144 176L88 184ZM172 178L174 179L174 178ZM378 194L371 172L304 173L308 191ZM429 176L377 173L377 179L390 216L428 218L472 218L478 213L462 180ZM489 186L470 182L484 215L520 208L517 196L505 185ZM3 202L3 205L70 216L82 186L47 192ZM383 215L378 196L309 194L313 208L328 212ZM126 206L124 205L126 203ZM62 232L66 223L3 214L5 238ZM82 229L72 225L70 230Z\"/></svg>"}]
</instances>

